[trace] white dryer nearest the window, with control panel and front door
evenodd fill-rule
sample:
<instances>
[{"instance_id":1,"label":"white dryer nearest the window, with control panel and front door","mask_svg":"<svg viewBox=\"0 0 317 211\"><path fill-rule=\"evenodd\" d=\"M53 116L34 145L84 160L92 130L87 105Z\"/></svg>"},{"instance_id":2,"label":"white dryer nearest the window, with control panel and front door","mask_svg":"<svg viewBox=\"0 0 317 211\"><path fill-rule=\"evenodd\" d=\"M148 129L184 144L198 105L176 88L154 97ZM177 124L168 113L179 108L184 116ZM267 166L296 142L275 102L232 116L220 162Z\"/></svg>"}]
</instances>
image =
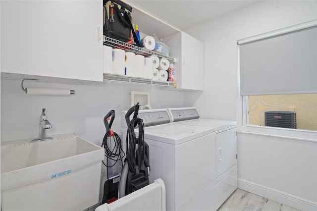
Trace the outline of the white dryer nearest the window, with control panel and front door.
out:
<instances>
[{"instance_id":1,"label":"white dryer nearest the window, with control panel and front door","mask_svg":"<svg viewBox=\"0 0 317 211\"><path fill-rule=\"evenodd\" d=\"M200 118L194 107L167 108L175 124L203 126L212 130L214 155L214 210L233 193L238 185L237 134L235 121ZM191 119L185 120L184 119Z\"/></svg>"}]
</instances>

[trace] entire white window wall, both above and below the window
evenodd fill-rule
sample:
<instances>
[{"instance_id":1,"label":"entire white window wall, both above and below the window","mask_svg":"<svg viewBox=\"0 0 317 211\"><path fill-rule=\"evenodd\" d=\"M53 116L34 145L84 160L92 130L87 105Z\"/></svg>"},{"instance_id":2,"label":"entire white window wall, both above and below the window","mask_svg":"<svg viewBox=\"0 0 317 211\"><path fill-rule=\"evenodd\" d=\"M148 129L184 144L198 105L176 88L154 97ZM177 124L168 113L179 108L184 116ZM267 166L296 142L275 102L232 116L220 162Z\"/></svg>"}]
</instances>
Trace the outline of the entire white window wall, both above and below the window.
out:
<instances>
[{"instance_id":1,"label":"entire white window wall, both above and below the window","mask_svg":"<svg viewBox=\"0 0 317 211\"><path fill-rule=\"evenodd\" d=\"M205 91L185 93L202 117L237 119L239 39L317 19L317 1L259 1L185 30L205 44ZM238 187L317 209L317 142L238 134Z\"/></svg>"}]
</instances>

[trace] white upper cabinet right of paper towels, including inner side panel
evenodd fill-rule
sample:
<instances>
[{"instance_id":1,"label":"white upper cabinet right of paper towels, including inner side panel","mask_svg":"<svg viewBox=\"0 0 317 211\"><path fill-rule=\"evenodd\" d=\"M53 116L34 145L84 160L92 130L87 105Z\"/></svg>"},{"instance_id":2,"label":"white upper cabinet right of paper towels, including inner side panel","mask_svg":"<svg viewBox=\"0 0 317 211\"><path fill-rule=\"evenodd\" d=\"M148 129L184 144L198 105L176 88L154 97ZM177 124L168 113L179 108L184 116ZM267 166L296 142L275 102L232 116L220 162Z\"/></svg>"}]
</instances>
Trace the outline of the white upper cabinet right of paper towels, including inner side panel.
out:
<instances>
[{"instance_id":1,"label":"white upper cabinet right of paper towels, including inner side panel","mask_svg":"<svg viewBox=\"0 0 317 211\"><path fill-rule=\"evenodd\" d=\"M177 89L204 90L204 44L185 32L165 38L170 55L176 57L174 79Z\"/></svg>"}]
</instances>

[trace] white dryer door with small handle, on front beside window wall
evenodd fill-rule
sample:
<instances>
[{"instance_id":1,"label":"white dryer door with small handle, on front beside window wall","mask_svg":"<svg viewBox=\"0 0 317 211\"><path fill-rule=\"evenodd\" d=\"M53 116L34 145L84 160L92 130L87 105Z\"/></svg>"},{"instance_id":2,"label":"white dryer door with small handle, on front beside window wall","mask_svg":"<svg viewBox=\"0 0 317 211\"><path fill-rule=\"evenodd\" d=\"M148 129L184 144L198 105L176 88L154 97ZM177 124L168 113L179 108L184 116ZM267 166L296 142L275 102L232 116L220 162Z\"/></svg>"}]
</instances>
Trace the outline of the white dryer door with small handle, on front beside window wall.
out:
<instances>
[{"instance_id":1,"label":"white dryer door with small handle, on front beside window wall","mask_svg":"<svg viewBox=\"0 0 317 211\"><path fill-rule=\"evenodd\" d=\"M215 149L217 178L237 162L236 128L216 133Z\"/></svg>"}]
</instances>

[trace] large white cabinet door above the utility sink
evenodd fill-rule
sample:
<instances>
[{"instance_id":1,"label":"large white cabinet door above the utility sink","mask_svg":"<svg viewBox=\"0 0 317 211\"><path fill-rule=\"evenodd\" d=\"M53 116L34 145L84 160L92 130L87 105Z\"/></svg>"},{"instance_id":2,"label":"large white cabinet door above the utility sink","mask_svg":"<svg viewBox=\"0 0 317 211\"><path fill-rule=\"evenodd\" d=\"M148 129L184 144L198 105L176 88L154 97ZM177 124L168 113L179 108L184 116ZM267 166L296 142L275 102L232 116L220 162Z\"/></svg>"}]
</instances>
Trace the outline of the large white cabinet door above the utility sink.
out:
<instances>
[{"instance_id":1,"label":"large white cabinet door above the utility sink","mask_svg":"<svg viewBox=\"0 0 317 211\"><path fill-rule=\"evenodd\" d=\"M1 0L1 72L103 81L102 0Z\"/></svg>"}]
</instances>

